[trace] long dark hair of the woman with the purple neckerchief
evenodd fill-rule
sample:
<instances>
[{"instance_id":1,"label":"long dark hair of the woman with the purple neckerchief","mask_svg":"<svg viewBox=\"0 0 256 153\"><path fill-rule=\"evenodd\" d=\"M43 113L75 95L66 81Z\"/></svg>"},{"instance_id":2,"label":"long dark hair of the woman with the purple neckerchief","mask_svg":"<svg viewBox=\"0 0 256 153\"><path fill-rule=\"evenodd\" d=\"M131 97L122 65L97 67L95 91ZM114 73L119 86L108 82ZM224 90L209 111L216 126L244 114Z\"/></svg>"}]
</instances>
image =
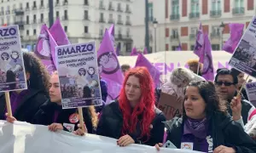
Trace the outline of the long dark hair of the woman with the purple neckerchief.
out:
<instances>
[{"instance_id":1,"label":"long dark hair of the woman with the purple neckerchief","mask_svg":"<svg viewBox=\"0 0 256 153\"><path fill-rule=\"evenodd\" d=\"M199 94L207 104L206 106L207 117L212 116L212 114L216 111L224 112L224 114L226 113L226 110L227 110L226 103L224 100L220 99L215 89L215 86L212 82L207 82L207 81L190 82L188 87L198 88ZM183 116L186 117L184 105L183 105Z\"/></svg>"}]
</instances>

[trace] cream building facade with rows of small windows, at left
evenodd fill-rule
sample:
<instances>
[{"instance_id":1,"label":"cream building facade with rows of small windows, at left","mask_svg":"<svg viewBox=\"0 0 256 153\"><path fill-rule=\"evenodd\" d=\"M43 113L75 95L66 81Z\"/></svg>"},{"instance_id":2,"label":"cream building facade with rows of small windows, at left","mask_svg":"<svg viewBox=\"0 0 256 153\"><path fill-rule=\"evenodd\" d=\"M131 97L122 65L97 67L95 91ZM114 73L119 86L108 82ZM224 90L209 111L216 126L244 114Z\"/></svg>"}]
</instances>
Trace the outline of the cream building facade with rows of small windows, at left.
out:
<instances>
[{"instance_id":1,"label":"cream building facade with rows of small windows, at left","mask_svg":"<svg viewBox=\"0 0 256 153\"><path fill-rule=\"evenodd\" d=\"M115 24L121 53L131 52L131 0L54 0L59 18L72 43L102 41L105 29ZM32 49L43 24L49 26L49 0L0 0L0 24L19 25L23 48ZM129 54L129 53L127 53Z\"/></svg>"}]
</instances>

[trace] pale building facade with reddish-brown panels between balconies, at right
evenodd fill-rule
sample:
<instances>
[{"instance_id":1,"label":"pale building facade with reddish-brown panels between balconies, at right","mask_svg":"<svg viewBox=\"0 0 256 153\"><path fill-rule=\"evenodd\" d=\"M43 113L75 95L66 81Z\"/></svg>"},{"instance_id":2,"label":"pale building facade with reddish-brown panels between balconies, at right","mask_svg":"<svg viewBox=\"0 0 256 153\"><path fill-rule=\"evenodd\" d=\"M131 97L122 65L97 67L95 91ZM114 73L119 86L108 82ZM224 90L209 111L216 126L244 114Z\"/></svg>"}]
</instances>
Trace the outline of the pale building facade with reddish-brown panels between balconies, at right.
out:
<instances>
[{"instance_id":1,"label":"pale building facade with reddish-brown panels between balconies, at right","mask_svg":"<svg viewBox=\"0 0 256 153\"><path fill-rule=\"evenodd\" d=\"M245 30L256 13L255 3L256 0L149 0L150 47L153 52L158 52L175 50L180 44L182 50L193 50L201 23L212 42L212 50L220 50L230 37L229 23L242 23ZM135 1L133 5L140 5L145 12L145 3ZM138 11L138 7L133 7L137 18L132 20L132 36L134 45L141 48L144 39L138 39L137 33L141 31L140 35L145 36L145 13L137 15ZM152 22L154 19L158 21L156 28Z\"/></svg>"}]
</instances>

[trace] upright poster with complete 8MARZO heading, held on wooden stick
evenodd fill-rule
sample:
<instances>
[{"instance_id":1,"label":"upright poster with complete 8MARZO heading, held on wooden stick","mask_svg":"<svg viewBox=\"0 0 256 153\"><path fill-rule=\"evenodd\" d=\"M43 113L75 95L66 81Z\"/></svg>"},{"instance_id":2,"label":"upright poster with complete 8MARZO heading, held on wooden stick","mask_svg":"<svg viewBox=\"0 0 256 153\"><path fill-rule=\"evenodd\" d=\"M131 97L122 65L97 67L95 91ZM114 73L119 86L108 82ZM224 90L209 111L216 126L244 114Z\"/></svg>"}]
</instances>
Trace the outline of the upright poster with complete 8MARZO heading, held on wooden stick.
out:
<instances>
[{"instance_id":1,"label":"upright poster with complete 8MARZO heading, held on wooden stick","mask_svg":"<svg viewBox=\"0 0 256 153\"><path fill-rule=\"evenodd\" d=\"M95 42L56 47L62 108L102 105Z\"/></svg>"}]
</instances>

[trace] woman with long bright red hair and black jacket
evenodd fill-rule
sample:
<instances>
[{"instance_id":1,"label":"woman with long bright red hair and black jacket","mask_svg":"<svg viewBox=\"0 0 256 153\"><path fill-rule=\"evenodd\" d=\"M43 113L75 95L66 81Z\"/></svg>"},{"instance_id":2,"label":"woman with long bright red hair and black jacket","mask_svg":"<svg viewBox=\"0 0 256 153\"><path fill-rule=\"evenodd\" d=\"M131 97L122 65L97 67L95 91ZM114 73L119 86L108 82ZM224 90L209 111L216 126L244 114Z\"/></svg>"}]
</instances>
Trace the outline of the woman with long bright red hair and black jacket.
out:
<instances>
[{"instance_id":1,"label":"woman with long bright red hair and black jacket","mask_svg":"<svg viewBox=\"0 0 256 153\"><path fill-rule=\"evenodd\" d=\"M162 142L166 117L154 106L154 100L154 82L147 68L131 69L119 99L103 109L96 133L118 139L119 146Z\"/></svg>"}]
</instances>

